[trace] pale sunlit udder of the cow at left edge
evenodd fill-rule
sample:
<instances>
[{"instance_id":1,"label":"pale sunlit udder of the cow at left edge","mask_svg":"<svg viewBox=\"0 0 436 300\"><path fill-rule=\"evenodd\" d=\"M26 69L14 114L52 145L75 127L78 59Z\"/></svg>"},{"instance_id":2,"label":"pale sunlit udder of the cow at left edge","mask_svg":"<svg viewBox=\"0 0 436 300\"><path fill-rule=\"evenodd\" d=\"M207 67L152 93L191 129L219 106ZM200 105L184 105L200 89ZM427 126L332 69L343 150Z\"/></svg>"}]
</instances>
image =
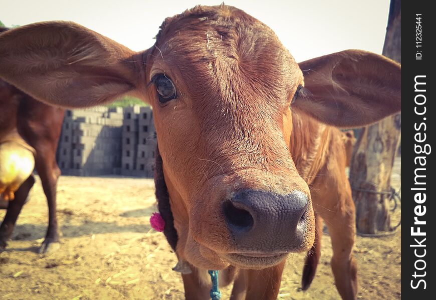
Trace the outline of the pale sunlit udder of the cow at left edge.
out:
<instances>
[{"instance_id":1,"label":"pale sunlit udder of the cow at left edge","mask_svg":"<svg viewBox=\"0 0 436 300\"><path fill-rule=\"evenodd\" d=\"M14 199L14 192L35 167L34 149L21 138L0 142L0 196Z\"/></svg>"}]
</instances>

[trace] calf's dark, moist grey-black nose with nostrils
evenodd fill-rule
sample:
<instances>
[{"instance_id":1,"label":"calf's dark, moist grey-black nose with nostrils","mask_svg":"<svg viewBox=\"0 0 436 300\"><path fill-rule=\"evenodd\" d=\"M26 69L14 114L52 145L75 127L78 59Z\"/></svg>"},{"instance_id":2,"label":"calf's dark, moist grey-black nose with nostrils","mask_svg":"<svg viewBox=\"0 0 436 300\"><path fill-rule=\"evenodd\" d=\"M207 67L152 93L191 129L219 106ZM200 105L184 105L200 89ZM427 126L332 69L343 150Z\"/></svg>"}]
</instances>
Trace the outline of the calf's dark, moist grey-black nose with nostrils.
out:
<instances>
[{"instance_id":1,"label":"calf's dark, moist grey-black nose with nostrils","mask_svg":"<svg viewBox=\"0 0 436 300\"><path fill-rule=\"evenodd\" d=\"M225 202L224 214L238 252L283 253L305 238L308 197L301 191L280 195L241 190Z\"/></svg>"}]
</instances>

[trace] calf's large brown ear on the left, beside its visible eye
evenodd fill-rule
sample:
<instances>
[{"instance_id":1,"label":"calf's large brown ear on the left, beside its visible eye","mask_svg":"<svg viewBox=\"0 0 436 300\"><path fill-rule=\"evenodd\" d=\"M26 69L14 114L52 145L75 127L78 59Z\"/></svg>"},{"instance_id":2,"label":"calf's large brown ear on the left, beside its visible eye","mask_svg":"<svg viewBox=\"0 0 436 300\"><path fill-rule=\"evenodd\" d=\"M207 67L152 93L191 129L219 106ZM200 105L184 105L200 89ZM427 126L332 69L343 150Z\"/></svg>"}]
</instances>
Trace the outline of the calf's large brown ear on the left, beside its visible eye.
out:
<instances>
[{"instance_id":1,"label":"calf's large brown ear on the left, beside its visible eye","mask_svg":"<svg viewBox=\"0 0 436 300\"><path fill-rule=\"evenodd\" d=\"M49 104L92 106L139 95L144 54L73 22L34 23L0 34L0 77Z\"/></svg>"}]
</instances>

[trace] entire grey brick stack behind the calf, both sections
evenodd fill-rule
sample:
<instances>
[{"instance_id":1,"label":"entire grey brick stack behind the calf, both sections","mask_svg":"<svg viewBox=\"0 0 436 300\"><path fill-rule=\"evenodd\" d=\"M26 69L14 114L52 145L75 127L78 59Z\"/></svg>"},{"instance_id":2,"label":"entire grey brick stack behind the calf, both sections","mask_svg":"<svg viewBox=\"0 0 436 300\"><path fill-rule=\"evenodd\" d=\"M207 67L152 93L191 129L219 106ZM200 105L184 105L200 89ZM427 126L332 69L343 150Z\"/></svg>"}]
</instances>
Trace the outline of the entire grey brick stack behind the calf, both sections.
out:
<instances>
[{"instance_id":1,"label":"entire grey brick stack behind the calf, both sections","mask_svg":"<svg viewBox=\"0 0 436 300\"><path fill-rule=\"evenodd\" d=\"M65 175L153 176L156 132L150 107L67 110L58 146Z\"/></svg>"}]
</instances>

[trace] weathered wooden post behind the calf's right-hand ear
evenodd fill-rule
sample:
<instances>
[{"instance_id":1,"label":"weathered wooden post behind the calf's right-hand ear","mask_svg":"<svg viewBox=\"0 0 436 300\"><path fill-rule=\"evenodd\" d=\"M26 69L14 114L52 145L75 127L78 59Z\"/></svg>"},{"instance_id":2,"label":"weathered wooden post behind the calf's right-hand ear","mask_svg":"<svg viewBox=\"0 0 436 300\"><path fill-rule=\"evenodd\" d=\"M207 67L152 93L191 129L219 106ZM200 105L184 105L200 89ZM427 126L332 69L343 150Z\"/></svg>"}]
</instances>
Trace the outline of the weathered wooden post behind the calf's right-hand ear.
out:
<instances>
[{"instance_id":1,"label":"weathered wooden post behind the calf's right-hand ear","mask_svg":"<svg viewBox=\"0 0 436 300\"><path fill-rule=\"evenodd\" d=\"M391 0L383 55L401 63L401 0ZM401 138L401 114L364 127L350 165L350 184L356 204L359 233L389 231L389 195L374 192L390 189L390 176ZM368 192L373 191L373 192Z\"/></svg>"}]
</instances>

